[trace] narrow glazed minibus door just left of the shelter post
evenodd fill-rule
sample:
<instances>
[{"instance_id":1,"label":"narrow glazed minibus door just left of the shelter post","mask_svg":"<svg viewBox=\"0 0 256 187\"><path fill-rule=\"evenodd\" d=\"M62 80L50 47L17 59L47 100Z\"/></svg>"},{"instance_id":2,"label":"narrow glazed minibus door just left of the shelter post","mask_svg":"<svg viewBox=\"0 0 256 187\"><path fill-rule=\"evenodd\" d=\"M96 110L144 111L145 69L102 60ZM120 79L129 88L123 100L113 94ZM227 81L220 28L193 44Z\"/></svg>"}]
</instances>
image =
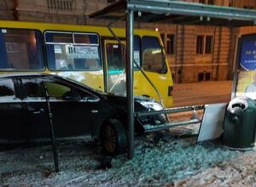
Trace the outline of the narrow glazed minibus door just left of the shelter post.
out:
<instances>
[{"instance_id":1,"label":"narrow glazed minibus door just left of the shelter post","mask_svg":"<svg viewBox=\"0 0 256 187\"><path fill-rule=\"evenodd\" d=\"M125 42L122 42L125 44ZM125 49L117 41L105 40L107 92L125 95Z\"/></svg>"}]
</instances>

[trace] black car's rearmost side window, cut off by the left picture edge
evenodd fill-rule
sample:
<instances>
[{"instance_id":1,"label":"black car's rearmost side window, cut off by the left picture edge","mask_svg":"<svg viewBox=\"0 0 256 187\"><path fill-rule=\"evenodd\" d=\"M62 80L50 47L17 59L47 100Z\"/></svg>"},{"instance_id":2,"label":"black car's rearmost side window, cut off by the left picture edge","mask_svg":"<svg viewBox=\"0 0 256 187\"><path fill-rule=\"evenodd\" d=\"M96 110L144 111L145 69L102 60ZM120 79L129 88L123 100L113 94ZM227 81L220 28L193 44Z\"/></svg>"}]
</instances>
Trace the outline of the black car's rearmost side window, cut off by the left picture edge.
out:
<instances>
[{"instance_id":1,"label":"black car's rearmost side window, cut off by the left picture edge","mask_svg":"<svg viewBox=\"0 0 256 187\"><path fill-rule=\"evenodd\" d=\"M12 79L0 80L0 101L15 99L15 87Z\"/></svg>"}]
</instances>

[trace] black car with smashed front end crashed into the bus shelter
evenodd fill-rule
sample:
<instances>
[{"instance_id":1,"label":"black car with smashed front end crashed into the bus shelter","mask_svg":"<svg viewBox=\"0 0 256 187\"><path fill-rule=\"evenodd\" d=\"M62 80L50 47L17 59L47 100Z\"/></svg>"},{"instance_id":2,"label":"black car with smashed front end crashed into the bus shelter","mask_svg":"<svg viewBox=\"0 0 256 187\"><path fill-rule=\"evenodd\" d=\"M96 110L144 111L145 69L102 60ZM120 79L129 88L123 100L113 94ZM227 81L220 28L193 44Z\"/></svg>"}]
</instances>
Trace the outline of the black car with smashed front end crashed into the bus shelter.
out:
<instances>
[{"instance_id":1,"label":"black car with smashed front end crashed into the bus shelter","mask_svg":"<svg viewBox=\"0 0 256 187\"><path fill-rule=\"evenodd\" d=\"M46 95L49 94L49 97ZM47 98L49 100L49 106ZM135 111L161 109L150 99L135 99ZM125 150L126 99L97 92L79 82L46 74L0 77L0 139L49 139L49 110L56 138L90 134L101 139L110 153ZM136 120L143 124L166 122L165 116Z\"/></svg>"}]
</instances>

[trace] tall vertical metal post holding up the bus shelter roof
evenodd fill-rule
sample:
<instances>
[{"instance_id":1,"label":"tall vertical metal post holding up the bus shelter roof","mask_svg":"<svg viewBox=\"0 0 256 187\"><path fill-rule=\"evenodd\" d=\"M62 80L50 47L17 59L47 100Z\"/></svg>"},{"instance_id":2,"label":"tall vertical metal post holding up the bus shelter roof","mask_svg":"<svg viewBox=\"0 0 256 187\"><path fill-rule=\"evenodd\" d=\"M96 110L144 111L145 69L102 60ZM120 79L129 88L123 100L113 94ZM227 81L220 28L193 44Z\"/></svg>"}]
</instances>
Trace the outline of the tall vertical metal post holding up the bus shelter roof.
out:
<instances>
[{"instance_id":1,"label":"tall vertical metal post holding up the bus shelter roof","mask_svg":"<svg viewBox=\"0 0 256 187\"><path fill-rule=\"evenodd\" d=\"M128 122L128 158L134 156L134 97L133 97L133 11L126 12L126 97L127 97L127 122Z\"/></svg>"}]
</instances>

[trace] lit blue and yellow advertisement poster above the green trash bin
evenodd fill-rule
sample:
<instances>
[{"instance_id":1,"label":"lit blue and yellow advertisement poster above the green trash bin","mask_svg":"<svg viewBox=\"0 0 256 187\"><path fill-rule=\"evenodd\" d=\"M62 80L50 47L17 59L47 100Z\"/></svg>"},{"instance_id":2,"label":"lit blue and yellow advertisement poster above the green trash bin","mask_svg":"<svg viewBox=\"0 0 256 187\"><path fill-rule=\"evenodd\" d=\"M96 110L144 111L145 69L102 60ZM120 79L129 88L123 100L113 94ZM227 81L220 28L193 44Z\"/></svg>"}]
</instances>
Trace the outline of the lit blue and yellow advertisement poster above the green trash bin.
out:
<instances>
[{"instance_id":1,"label":"lit blue and yellow advertisement poster above the green trash bin","mask_svg":"<svg viewBox=\"0 0 256 187\"><path fill-rule=\"evenodd\" d=\"M236 97L256 99L256 35L241 37Z\"/></svg>"}]
</instances>

